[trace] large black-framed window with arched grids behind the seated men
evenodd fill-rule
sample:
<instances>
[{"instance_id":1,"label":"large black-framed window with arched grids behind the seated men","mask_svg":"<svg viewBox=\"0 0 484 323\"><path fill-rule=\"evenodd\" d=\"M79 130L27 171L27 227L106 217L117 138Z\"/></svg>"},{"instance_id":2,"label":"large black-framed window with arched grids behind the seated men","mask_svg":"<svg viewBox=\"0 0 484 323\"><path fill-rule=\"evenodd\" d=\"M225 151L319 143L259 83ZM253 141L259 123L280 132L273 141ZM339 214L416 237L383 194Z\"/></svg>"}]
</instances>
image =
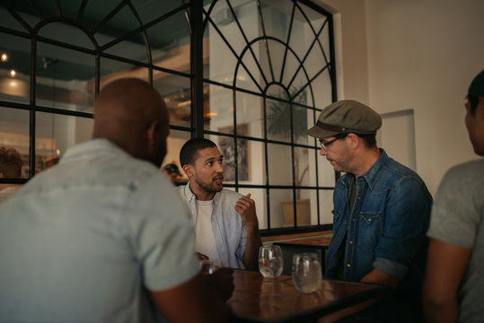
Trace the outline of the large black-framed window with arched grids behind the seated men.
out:
<instances>
[{"instance_id":1,"label":"large black-framed window with arched grids behind the seated men","mask_svg":"<svg viewBox=\"0 0 484 323\"><path fill-rule=\"evenodd\" d=\"M152 83L178 161L190 136L224 153L264 234L331 223L335 174L305 135L336 100L332 17L311 1L51 0L0 5L0 145L25 182L92 135L93 102L119 77Z\"/></svg>"}]
</instances>

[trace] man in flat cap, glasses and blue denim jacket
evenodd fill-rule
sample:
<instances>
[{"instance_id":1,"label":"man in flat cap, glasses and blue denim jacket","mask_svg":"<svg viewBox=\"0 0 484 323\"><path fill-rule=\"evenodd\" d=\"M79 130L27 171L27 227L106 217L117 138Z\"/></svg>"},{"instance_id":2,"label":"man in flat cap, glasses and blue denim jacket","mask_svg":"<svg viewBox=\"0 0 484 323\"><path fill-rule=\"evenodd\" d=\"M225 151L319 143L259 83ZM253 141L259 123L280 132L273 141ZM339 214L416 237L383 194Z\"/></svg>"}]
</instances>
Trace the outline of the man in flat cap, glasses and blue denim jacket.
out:
<instances>
[{"instance_id":1,"label":"man in flat cap, glasses and blue denim jacket","mask_svg":"<svg viewBox=\"0 0 484 323\"><path fill-rule=\"evenodd\" d=\"M418 322L432 196L418 174L376 146L382 118L355 100L322 110L307 131L321 156L344 172L333 194L333 238L326 273L332 279L386 284L392 296L354 319ZM420 259L421 258L421 259ZM420 260L420 261L418 261Z\"/></svg>"}]
</instances>

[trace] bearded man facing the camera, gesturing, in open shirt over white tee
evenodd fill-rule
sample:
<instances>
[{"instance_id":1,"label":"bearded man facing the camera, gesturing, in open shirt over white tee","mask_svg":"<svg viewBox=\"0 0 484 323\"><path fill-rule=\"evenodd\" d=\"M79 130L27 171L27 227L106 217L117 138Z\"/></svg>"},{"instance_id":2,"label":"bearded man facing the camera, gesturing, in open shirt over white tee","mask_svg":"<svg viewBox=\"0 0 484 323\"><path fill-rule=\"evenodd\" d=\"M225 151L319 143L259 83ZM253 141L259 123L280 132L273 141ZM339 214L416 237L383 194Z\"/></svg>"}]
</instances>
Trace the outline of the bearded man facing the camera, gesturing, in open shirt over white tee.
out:
<instances>
[{"instance_id":1,"label":"bearded man facing the camera, gesturing, in open shirt over white tee","mask_svg":"<svg viewBox=\"0 0 484 323\"><path fill-rule=\"evenodd\" d=\"M261 246L259 221L251 194L242 196L222 188L224 156L216 144L193 138L181 147L180 165L189 178L179 187L195 226L198 258L223 266L258 270Z\"/></svg>"}]
</instances>

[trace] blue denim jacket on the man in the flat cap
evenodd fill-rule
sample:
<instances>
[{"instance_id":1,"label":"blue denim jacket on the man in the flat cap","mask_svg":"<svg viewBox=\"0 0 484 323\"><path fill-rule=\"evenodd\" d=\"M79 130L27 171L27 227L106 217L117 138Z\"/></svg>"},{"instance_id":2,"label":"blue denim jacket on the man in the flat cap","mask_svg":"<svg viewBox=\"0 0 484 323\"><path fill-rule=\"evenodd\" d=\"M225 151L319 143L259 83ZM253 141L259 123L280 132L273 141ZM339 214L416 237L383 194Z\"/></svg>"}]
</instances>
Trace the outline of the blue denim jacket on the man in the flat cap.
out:
<instances>
[{"instance_id":1,"label":"blue denim jacket on the man in the flat cap","mask_svg":"<svg viewBox=\"0 0 484 323\"><path fill-rule=\"evenodd\" d=\"M357 282L376 268L401 282L424 243L432 196L415 171L381 152L356 179L353 210L348 209L348 189L355 175L347 173L336 183L326 266L330 278L339 278L342 269L343 280Z\"/></svg>"}]
</instances>

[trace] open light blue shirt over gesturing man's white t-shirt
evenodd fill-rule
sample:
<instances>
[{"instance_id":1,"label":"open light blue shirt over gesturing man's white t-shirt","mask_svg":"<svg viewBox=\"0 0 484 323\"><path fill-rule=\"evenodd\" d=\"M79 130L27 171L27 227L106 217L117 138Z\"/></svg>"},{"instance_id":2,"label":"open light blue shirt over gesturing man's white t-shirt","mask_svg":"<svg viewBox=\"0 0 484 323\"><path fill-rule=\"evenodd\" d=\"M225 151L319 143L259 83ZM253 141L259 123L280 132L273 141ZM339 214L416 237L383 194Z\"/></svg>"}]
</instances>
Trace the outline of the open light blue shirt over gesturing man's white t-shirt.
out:
<instances>
[{"instance_id":1,"label":"open light blue shirt over gesturing man's white t-shirt","mask_svg":"<svg viewBox=\"0 0 484 323\"><path fill-rule=\"evenodd\" d=\"M196 218L196 196L191 192L189 183L178 187L178 192L189 205L192 218ZM243 252L247 245L247 227L235 209L235 203L242 194L223 188L212 199L211 223L216 240L216 253L223 266L241 268Z\"/></svg>"}]
</instances>

